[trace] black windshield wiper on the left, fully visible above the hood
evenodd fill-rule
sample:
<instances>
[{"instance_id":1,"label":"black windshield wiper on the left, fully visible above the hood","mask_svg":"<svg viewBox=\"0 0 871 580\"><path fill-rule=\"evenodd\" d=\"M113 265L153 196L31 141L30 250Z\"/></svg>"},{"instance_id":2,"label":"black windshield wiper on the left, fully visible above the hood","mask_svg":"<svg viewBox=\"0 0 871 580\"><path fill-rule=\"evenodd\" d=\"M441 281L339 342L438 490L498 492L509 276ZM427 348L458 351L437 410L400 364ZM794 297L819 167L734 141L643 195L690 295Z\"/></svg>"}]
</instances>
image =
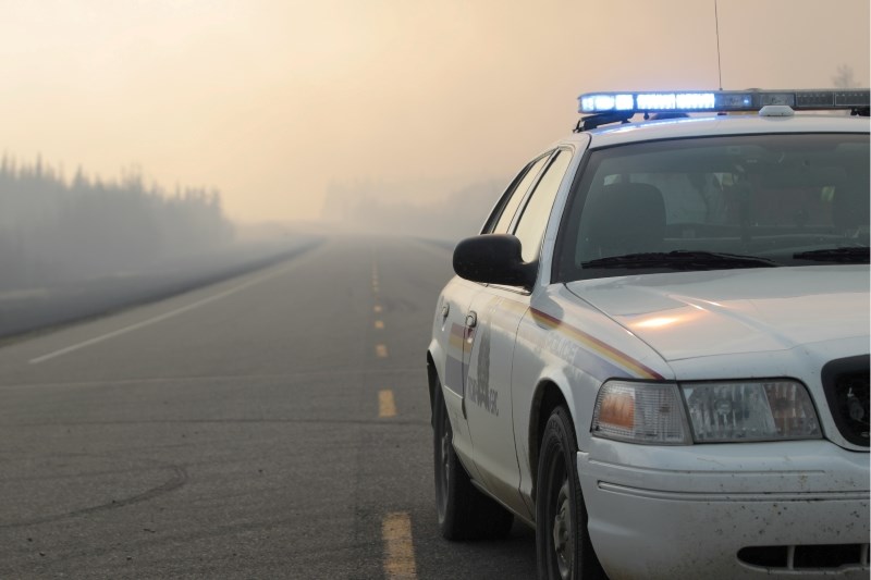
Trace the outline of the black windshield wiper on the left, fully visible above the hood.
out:
<instances>
[{"instance_id":1,"label":"black windshield wiper on the left, fully visible above the hood","mask_svg":"<svg viewBox=\"0 0 871 580\"><path fill-rule=\"evenodd\" d=\"M768 258L719 251L650 251L627 254L581 262L584 268L671 268L673 270L724 270L731 268L774 268L782 266Z\"/></svg>"}]
</instances>

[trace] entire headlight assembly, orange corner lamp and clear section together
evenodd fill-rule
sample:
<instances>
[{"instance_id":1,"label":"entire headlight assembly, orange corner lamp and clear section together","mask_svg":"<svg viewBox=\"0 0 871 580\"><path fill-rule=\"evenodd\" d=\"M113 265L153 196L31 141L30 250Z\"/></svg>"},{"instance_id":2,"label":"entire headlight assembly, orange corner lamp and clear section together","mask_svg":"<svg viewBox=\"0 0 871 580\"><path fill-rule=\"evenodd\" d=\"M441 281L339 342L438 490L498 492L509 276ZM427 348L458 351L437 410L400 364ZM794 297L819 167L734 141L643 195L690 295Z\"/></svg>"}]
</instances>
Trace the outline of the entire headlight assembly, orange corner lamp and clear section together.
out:
<instances>
[{"instance_id":1,"label":"entire headlight assembly, orange corner lamp and clear section together","mask_svg":"<svg viewBox=\"0 0 871 580\"><path fill-rule=\"evenodd\" d=\"M679 386L609 381L599 390L591 431L653 445L822 437L807 388L786 379Z\"/></svg>"}]
</instances>

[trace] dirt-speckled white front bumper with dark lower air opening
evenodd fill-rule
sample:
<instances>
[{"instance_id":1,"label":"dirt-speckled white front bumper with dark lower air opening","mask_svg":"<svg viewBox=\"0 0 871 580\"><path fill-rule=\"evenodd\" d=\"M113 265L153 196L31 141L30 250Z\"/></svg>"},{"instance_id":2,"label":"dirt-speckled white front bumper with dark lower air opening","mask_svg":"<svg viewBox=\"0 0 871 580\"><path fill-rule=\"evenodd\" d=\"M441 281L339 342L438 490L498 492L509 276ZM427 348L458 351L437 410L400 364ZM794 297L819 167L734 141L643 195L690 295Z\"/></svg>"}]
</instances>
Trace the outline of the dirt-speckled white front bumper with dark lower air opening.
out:
<instances>
[{"instance_id":1,"label":"dirt-speckled white front bumper with dark lower air opening","mask_svg":"<svg viewBox=\"0 0 871 580\"><path fill-rule=\"evenodd\" d=\"M867 453L826 441L593 439L577 467L590 539L612 580L869 576Z\"/></svg>"}]
</instances>

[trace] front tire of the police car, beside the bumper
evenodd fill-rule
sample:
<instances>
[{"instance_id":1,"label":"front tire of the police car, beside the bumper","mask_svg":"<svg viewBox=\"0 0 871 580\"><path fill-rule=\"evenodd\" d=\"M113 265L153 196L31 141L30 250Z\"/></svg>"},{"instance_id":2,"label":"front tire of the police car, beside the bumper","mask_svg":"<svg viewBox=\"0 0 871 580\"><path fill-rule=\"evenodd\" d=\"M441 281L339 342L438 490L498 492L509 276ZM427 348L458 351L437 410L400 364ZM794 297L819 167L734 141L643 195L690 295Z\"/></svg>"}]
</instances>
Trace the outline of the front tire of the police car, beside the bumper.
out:
<instances>
[{"instance_id":1,"label":"front tire of the police car, beside the bumper","mask_svg":"<svg viewBox=\"0 0 871 580\"><path fill-rule=\"evenodd\" d=\"M565 407L551 414L541 440L536 501L536 559L540 580L608 578L587 531L572 417Z\"/></svg>"}]
</instances>

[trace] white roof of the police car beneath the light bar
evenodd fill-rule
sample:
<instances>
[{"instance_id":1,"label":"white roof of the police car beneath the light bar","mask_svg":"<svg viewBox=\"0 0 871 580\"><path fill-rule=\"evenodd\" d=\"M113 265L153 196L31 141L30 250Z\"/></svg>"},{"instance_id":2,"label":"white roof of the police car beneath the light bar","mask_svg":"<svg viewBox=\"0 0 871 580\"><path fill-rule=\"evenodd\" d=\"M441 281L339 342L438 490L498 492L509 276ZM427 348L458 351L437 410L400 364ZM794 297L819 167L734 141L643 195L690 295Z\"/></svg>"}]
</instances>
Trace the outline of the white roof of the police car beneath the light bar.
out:
<instances>
[{"instance_id":1,"label":"white roof of the police car beneath the light bar","mask_svg":"<svg viewBox=\"0 0 871 580\"><path fill-rule=\"evenodd\" d=\"M757 114L708 115L604 125L574 134L564 143L582 143L589 138L590 149L598 149L637 141L720 135L869 133L870 127L871 123L864 116L835 116L831 114L797 114L794 116L759 116Z\"/></svg>"}]
</instances>

